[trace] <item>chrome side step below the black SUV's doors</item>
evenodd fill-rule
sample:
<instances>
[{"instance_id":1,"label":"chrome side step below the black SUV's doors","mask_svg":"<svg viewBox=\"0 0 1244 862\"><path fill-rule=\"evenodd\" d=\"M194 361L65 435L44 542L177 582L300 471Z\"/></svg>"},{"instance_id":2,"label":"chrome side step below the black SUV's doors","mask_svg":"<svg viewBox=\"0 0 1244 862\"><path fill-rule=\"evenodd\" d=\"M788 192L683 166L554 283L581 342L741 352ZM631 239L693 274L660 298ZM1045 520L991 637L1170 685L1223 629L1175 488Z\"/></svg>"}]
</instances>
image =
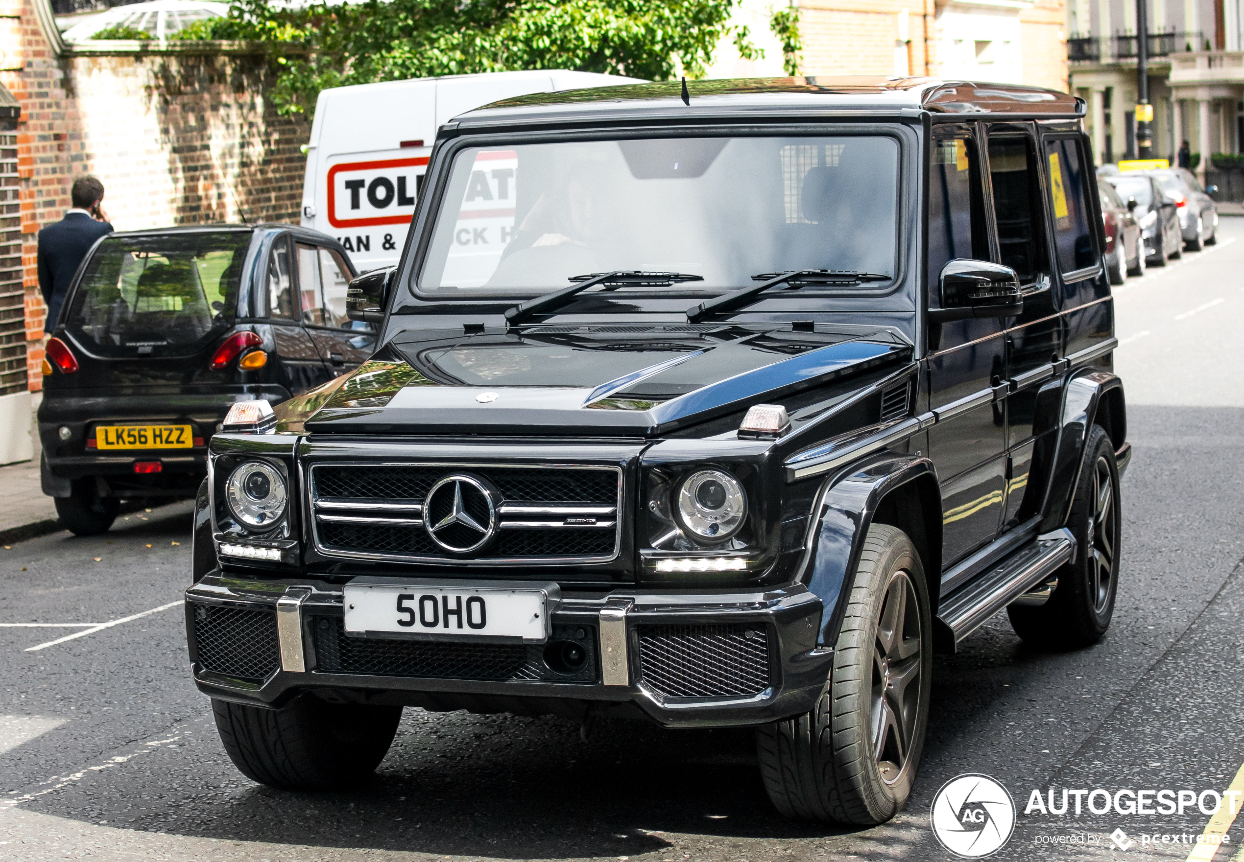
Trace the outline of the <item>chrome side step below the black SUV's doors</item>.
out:
<instances>
[{"instance_id":1,"label":"chrome side step below the black SUV's doors","mask_svg":"<svg viewBox=\"0 0 1244 862\"><path fill-rule=\"evenodd\" d=\"M938 619L958 643L1014 600L1046 582L1075 554L1076 540L1066 527L1037 536L1031 545L943 598Z\"/></svg>"}]
</instances>

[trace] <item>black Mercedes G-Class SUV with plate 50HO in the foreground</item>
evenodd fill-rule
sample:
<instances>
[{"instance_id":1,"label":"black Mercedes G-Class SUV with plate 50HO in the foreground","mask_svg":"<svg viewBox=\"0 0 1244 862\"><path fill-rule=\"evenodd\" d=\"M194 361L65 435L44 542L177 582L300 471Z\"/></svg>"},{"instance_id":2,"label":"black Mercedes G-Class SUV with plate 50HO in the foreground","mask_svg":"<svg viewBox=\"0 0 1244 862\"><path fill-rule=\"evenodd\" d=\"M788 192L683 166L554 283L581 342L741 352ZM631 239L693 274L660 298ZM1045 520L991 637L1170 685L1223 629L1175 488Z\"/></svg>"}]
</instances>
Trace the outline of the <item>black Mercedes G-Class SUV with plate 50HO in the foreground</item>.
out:
<instances>
[{"instance_id":1,"label":"black Mercedes G-Class SUV with plate 50HO in the foreground","mask_svg":"<svg viewBox=\"0 0 1244 862\"><path fill-rule=\"evenodd\" d=\"M779 811L877 823L934 649L1003 608L1106 632L1131 448L1084 101L682 92L449 122L351 285L377 353L213 438L187 626L245 775L364 779L407 705L633 716L755 728Z\"/></svg>"}]
</instances>

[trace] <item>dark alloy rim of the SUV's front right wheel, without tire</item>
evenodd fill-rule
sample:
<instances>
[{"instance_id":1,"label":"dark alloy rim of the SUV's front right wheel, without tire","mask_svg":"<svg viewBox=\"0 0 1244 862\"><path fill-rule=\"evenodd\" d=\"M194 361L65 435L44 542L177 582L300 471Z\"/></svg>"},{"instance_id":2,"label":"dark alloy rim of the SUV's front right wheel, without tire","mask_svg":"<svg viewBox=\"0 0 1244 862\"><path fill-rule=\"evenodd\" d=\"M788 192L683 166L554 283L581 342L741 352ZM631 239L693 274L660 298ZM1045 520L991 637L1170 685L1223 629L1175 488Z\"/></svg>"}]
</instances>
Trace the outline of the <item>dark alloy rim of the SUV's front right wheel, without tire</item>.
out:
<instances>
[{"instance_id":1,"label":"dark alloy rim of the SUV's front right wheel, without tire","mask_svg":"<svg viewBox=\"0 0 1244 862\"><path fill-rule=\"evenodd\" d=\"M911 576L898 570L886 585L872 663L872 741L882 781L894 784L907 765L919 718L921 613Z\"/></svg>"}]
</instances>

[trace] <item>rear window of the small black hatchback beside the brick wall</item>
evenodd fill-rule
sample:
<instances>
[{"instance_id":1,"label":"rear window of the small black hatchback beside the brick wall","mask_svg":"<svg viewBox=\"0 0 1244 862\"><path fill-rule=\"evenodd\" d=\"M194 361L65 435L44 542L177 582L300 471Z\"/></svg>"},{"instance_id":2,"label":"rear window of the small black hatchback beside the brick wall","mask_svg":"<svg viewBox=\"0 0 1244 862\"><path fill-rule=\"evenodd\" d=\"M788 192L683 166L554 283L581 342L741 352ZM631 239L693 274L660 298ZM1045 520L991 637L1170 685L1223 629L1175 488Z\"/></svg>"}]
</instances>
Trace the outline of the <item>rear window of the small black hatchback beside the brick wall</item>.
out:
<instances>
[{"instance_id":1,"label":"rear window of the small black hatchback beside the brick wall","mask_svg":"<svg viewBox=\"0 0 1244 862\"><path fill-rule=\"evenodd\" d=\"M100 356L188 356L233 325L250 231L109 236L87 262L68 330Z\"/></svg>"}]
</instances>

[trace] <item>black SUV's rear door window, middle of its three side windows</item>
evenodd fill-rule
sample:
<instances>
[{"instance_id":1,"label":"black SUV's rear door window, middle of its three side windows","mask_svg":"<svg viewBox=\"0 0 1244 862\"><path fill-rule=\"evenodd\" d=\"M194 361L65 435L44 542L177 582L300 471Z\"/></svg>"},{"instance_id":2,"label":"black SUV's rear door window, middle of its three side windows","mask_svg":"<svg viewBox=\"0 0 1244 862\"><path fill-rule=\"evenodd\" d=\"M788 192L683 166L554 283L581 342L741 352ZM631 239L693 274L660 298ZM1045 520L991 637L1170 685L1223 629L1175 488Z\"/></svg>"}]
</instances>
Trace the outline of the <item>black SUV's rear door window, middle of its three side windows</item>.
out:
<instances>
[{"instance_id":1,"label":"black SUV's rear door window, middle of its three side windows","mask_svg":"<svg viewBox=\"0 0 1244 862\"><path fill-rule=\"evenodd\" d=\"M1015 270L1021 285L1035 282L1046 269L1035 162L1028 138L989 139L999 262Z\"/></svg>"}]
</instances>

